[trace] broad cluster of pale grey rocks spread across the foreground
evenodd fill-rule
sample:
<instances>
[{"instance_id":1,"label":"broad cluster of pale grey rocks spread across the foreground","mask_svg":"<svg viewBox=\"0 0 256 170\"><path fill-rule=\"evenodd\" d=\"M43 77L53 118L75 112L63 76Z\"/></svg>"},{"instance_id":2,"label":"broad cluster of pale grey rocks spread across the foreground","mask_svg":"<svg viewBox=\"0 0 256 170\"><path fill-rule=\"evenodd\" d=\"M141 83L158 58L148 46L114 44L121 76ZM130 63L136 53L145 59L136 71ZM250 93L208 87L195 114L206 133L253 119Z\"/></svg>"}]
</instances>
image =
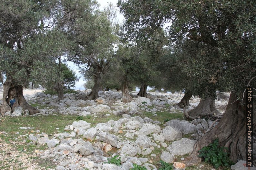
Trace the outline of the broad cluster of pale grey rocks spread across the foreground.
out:
<instances>
[{"instance_id":1,"label":"broad cluster of pale grey rocks spread across the foreground","mask_svg":"<svg viewBox=\"0 0 256 170\"><path fill-rule=\"evenodd\" d=\"M29 136L30 144L48 146L48 150L35 152L41 158L53 159L58 170L129 170L133 164L153 170L157 168L145 156L156 157L152 151L161 148L161 159L174 163L175 156L191 154L195 140L182 138L182 135L195 133L197 127L187 121L172 120L161 129L150 118L123 114L117 121L110 120L94 127L83 120L74 121L64 130L67 132L54 134L52 139L45 133ZM173 142L168 146L169 141ZM106 162L105 152L113 148L117 151L112 157L118 154L121 166Z\"/></svg>"}]
</instances>

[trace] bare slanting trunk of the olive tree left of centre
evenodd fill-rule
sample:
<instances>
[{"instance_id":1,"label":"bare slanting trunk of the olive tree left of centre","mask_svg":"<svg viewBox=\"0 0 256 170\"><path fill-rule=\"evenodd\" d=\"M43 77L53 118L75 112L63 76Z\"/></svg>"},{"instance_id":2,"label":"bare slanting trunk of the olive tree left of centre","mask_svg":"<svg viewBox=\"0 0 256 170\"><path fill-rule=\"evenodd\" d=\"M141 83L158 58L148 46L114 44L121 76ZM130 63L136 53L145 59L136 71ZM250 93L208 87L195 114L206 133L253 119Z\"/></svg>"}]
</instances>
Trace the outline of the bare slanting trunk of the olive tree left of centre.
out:
<instances>
[{"instance_id":1,"label":"bare slanting trunk of the olive tree left of centre","mask_svg":"<svg viewBox=\"0 0 256 170\"><path fill-rule=\"evenodd\" d=\"M90 94L87 95L86 100L95 100L98 98L98 93L101 88L101 72L94 74L94 86Z\"/></svg>"}]
</instances>

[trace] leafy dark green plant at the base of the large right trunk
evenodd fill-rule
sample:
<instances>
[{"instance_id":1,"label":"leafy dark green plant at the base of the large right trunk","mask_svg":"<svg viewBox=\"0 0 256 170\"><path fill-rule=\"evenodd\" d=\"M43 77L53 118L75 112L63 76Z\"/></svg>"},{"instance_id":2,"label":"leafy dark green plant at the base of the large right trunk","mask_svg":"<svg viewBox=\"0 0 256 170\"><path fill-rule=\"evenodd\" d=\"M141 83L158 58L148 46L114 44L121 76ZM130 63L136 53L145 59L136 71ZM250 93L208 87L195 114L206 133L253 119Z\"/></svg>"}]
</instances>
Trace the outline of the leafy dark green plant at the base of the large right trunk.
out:
<instances>
[{"instance_id":1,"label":"leafy dark green plant at the base of the large right trunk","mask_svg":"<svg viewBox=\"0 0 256 170\"><path fill-rule=\"evenodd\" d=\"M226 147L219 147L219 139L217 138L213 143L199 150L198 157L203 157L205 162L210 162L215 168L229 166L232 162L229 159L229 153L224 152L224 149L228 150Z\"/></svg>"}]
</instances>

